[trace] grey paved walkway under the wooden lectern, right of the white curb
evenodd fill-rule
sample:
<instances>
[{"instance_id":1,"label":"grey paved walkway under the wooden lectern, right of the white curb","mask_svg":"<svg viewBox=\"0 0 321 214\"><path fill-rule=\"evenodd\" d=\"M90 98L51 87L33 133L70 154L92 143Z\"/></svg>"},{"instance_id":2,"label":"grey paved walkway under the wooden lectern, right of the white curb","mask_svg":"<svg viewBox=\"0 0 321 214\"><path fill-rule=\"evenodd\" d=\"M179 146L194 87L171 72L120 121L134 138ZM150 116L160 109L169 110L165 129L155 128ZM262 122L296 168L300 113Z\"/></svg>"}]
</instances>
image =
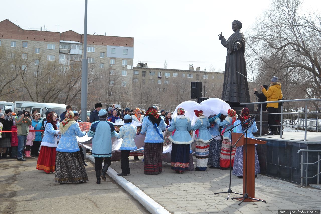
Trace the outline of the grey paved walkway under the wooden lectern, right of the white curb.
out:
<instances>
[{"instance_id":1,"label":"grey paved walkway under the wooden lectern, right of the white curb","mask_svg":"<svg viewBox=\"0 0 321 214\"><path fill-rule=\"evenodd\" d=\"M142 157L140 157L142 160ZM258 174L256 198L263 202L226 200L229 171L207 169L206 172L177 174L163 162L162 173L145 175L143 162L130 157L131 175L126 178L171 213L277 213L279 209L321 209L321 190L300 188L299 185ZM121 172L120 161L111 167ZM232 175L232 190L242 193L242 179ZM231 197L239 197L232 195ZM230 198L231 198L230 197Z\"/></svg>"}]
</instances>

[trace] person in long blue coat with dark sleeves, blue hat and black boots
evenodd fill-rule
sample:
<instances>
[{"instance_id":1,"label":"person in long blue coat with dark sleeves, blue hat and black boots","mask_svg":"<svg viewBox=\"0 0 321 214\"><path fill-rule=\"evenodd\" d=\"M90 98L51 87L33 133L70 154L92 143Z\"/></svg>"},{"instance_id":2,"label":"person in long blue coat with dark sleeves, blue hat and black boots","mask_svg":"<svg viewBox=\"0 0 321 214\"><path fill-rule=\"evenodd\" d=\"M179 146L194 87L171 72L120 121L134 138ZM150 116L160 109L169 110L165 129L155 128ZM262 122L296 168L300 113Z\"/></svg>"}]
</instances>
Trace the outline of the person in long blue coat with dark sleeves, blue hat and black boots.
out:
<instances>
[{"instance_id":1,"label":"person in long blue coat with dark sleeves, blue hat and black boots","mask_svg":"<svg viewBox=\"0 0 321 214\"><path fill-rule=\"evenodd\" d=\"M103 181L106 181L106 172L111 164L111 138L115 136L116 132L114 124L107 121L108 112L105 109L101 109L98 112L98 116L99 120L91 123L87 136L93 137L92 156L95 158L96 183L100 184L100 176ZM105 160L102 167L103 157Z\"/></svg>"}]
</instances>

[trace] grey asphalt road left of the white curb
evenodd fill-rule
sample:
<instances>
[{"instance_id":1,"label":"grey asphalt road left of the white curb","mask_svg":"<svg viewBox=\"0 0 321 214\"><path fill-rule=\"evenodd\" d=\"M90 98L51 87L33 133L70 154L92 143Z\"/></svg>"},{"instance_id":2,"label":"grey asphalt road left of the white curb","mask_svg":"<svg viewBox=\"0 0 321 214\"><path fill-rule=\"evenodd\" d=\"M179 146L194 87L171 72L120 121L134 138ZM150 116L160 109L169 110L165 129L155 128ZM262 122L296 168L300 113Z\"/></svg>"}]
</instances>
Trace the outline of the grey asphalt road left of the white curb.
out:
<instances>
[{"instance_id":1,"label":"grey asphalt road left of the white curb","mask_svg":"<svg viewBox=\"0 0 321 214\"><path fill-rule=\"evenodd\" d=\"M89 182L64 185L36 164L37 157L0 159L0 213L149 213L110 177L96 184L89 161Z\"/></svg>"}]
</instances>

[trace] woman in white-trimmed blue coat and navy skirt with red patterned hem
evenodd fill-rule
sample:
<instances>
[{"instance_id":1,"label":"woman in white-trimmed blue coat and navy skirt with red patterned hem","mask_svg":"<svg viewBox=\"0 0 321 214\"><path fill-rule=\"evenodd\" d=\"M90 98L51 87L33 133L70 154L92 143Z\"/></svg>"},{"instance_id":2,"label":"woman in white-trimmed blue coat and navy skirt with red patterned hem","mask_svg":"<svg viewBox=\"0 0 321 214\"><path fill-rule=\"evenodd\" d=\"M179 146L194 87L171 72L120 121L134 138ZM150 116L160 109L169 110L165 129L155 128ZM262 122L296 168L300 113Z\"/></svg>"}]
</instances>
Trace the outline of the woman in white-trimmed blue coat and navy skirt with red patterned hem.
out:
<instances>
[{"instance_id":1,"label":"woman in white-trimmed blue coat and navy skirt with red patterned hem","mask_svg":"<svg viewBox=\"0 0 321 214\"><path fill-rule=\"evenodd\" d=\"M170 127L167 129L173 132L169 136L172 141L172 154L170 158L170 168L178 174L183 174L189 166L189 144L193 143L191 135L188 133L192 129L191 120L185 117L183 108L178 108L177 117L174 117Z\"/></svg>"}]
</instances>

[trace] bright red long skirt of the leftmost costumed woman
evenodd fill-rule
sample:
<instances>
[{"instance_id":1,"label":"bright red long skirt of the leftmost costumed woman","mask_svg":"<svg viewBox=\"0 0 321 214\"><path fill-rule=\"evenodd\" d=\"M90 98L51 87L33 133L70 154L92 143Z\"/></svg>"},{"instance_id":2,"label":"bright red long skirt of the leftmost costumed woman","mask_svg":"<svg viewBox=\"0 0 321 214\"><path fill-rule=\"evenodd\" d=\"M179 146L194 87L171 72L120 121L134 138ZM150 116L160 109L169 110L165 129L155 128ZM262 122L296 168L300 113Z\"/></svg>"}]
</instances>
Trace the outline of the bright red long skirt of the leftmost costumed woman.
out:
<instances>
[{"instance_id":1,"label":"bright red long skirt of the leftmost costumed woman","mask_svg":"<svg viewBox=\"0 0 321 214\"><path fill-rule=\"evenodd\" d=\"M56 153L56 147L41 146L36 169L46 173L55 172Z\"/></svg>"}]
</instances>

